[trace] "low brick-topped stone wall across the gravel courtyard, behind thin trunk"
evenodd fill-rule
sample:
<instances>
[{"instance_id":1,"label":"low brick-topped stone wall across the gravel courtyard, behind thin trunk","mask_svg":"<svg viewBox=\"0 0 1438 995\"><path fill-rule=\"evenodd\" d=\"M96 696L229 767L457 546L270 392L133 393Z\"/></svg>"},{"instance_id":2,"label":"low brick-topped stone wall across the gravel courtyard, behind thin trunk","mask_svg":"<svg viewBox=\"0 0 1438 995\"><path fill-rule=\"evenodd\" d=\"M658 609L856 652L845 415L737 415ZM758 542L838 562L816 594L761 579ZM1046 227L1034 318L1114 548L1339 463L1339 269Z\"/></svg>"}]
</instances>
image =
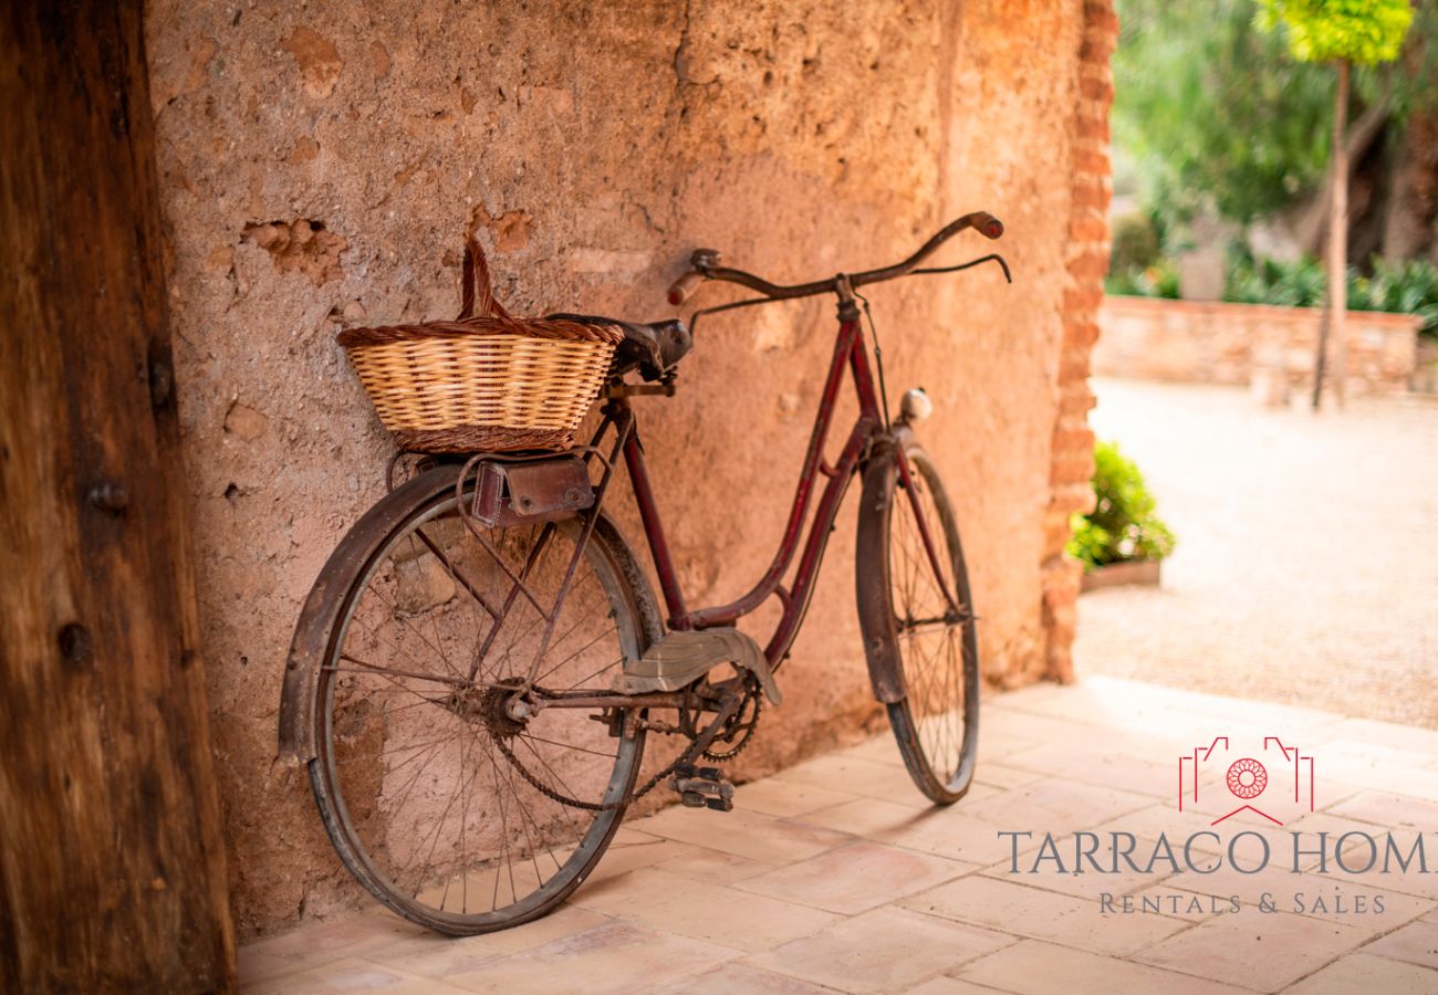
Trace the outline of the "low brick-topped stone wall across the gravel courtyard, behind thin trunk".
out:
<instances>
[{"instance_id":1,"label":"low brick-topped stone wall across the gravel courtyard, behind thin trunk","mask_svg":"<svg viewBox=\"0 0 1438 995\"><path fill-rule=\"evenodd\" d=\"M1093 371L1103 377L1247 384L1278 371L1290 385L1313 382L1319 308L1106 298ZM1350 311L1346 322L1349 394L1398 394L1414 377L1418 328L1412 315Z\"/></svg>"}]
</instances>

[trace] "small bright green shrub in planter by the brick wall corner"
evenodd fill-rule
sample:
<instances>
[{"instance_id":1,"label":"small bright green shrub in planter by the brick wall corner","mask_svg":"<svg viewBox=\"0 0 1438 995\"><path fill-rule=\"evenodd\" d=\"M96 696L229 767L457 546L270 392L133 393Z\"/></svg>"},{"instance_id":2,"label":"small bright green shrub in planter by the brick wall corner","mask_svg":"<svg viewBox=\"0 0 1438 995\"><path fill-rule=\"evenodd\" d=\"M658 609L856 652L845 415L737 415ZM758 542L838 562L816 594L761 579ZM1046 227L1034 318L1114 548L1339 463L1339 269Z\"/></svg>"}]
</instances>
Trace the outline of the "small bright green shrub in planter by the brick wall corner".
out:
<instances>
[{"instance_id":1,"label":"small bright green shrub in planter by the brick wall corner","mask_svg":"<svg viewBox=\"0 0 1438 995\"><path fill-rule=\"evenodd\" d=\"M1086 571L1129 559L1163 559L1173 552L1173 533L1153 512L1155 500L1133 460L1114 443L1093 449L1094 509L1074 515L1068 555Z\"/></svg>"}]
</instances>

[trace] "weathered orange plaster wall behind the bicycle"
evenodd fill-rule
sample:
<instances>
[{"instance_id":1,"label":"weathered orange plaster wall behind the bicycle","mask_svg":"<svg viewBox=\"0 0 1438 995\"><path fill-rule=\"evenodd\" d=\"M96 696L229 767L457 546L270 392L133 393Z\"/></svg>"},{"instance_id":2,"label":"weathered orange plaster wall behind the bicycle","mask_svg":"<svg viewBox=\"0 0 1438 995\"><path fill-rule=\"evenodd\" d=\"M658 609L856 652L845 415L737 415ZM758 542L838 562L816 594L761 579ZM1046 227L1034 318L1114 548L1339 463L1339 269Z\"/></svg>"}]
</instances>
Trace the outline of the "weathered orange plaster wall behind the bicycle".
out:
<instances>
[{"instance_id":1,"label":"weathered orange plaster wall behind the bicycle","mask_svg":"<svg viewBox=\"0 0 1438 995\"><path fill-rule=\"evenodd\" d=\"M469 230L516 313L657 319L696 244L808 279L899 259L966 210L1004 219L1014 286L978 270L871 299L892 388L922 384L938 407L923 436L965 529L985 667L995 682L1044 673L1084 23L1076 0L150 6L242 935L358 900L306 779L275 761L301 600L383 493L391 451L334 334L457 311ZM986 249L969 236L948 257ZM728 600L768 562L831 313L709 319L679 397L641 401L692 602ZM877 728L853 545L850 508L788 699L739 774Z\"/></svg>"}]
</instances>

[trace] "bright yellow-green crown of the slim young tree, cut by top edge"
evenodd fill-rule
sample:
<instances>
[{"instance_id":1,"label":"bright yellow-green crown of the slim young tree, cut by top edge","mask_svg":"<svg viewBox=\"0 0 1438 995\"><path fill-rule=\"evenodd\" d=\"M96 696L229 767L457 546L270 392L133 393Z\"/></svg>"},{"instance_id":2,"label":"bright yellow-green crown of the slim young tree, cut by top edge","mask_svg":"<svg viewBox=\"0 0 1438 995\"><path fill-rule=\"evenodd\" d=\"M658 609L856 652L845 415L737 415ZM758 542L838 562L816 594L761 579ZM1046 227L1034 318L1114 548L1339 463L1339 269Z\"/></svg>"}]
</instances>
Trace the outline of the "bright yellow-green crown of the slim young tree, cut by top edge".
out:
<instances>
[{"instance_id":1,"label":"bright yellow-green crown of the slim young tree, cut by top edge","mask_svg":"<svg viewBox=\"0 0 1438 995\"><path fill-rule=\"evenodd\" d=\"M1409 0L1263 0L1258 24L1287 29L1288 49L1300 62L1357 66L1392 62L1414 22Z\"/></svg>"}]
</instances>

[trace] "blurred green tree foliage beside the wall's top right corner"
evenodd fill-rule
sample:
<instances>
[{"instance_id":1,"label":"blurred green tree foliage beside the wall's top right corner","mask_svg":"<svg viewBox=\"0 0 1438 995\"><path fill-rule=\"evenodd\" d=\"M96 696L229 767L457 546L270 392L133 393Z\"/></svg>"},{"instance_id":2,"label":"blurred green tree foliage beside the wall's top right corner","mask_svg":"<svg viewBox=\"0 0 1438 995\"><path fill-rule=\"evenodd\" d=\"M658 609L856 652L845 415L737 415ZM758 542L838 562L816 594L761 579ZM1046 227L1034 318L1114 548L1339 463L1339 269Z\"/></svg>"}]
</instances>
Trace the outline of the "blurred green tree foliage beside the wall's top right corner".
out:
<instances>
[{"instance_id":1,"label":"blurred green tree foliage beside the wall's top right corner","mask_svg":"<svg viewBox=\"0 0 1438 995\"><path fill-rule=\"evenodd\" d=\"M1333 72L1286 58L1255 12L1255 0L1119 0L1114 142L1140 201L1175 231L1199 211L1273 214L1323 180ZM1369 73L1355 88L1376 91Z\"/></svg>"}]
</instances>

